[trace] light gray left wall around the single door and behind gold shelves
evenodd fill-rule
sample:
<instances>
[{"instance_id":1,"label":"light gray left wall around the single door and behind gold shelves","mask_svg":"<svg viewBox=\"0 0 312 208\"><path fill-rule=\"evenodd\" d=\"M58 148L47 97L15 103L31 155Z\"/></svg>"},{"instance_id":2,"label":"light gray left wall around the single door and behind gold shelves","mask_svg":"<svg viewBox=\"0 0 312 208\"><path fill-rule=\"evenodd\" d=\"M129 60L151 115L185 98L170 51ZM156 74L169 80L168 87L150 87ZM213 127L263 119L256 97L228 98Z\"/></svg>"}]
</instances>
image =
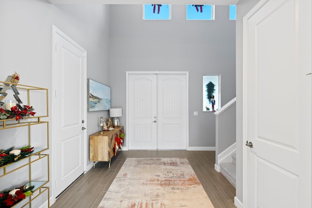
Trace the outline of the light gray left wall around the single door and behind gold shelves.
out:
<instances>
[{"instance_id":1,"label":"light gray left wall around the single door and behind gold shelves","mask_svg":"<svg viewBox=\"0 0 312 208\"><path fill-rule=\"evenodd\" d=\"M50 148L54 144L51 135L52 25L57 26L87 50L87 77L110 84L109 18L107 5L52 5L47 0L0 1L0 80L5 80L8 75L16 71L20 74L21 84L49 89ZM36 106L34 108L36 109ZM98 131L97 118L101 115L107 117L108 113L107 111L88 113L87 135ZM15 135L19 130L5 131L11 131L8 133ZM11 136L10 140L5 140L3 134L1 131L0 148L20 146L22 138L16 140ZM52 154L51 149L49 153ZM50 160L52 158L53 154ZM50 177L51 166L52 163L50 163ZM9 188L1 181L0 184L3 188ZM11 183L10 186L16 185ZM52 186L51 183L49 186ZM53 190L50 191L51 195L52 193Z\"/></svg>"}]
</instances>

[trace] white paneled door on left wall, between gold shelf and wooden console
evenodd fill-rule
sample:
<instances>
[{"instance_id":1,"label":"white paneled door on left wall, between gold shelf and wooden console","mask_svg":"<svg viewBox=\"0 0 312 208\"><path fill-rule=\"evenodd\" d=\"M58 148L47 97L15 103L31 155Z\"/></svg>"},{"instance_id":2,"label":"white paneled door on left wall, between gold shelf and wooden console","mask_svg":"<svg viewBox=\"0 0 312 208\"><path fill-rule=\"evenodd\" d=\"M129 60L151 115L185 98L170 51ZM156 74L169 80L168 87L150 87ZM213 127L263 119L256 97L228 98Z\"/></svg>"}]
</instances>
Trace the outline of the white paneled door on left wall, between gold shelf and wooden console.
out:
<instances>
[{"instance_id":1,"label":"white paneled door on left wall, between gold shelf and wooden console","mask_svg":"<svg viewBox=\"0 0 312 208\"><path fill-rule=\"evenodd\" d=\"M55 28L55 196L84 172L86 51Z\"/></svg>"}]
</instances>

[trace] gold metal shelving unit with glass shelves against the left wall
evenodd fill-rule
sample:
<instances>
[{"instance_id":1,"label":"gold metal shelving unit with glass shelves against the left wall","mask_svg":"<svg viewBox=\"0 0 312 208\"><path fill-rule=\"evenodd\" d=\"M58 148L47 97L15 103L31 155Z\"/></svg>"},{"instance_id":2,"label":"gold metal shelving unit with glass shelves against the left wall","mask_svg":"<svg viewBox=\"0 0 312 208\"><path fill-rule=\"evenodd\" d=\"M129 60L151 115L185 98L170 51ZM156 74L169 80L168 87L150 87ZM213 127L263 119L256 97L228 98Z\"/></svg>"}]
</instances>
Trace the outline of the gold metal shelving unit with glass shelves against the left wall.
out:
<instances>
[{"instance_id":1,"label":"gold metal shelving unit with glass shelves against the left wall","mask_svg":"<svg viewBox=\"0 0 312 208\"><path fill-rule=\"evenodd\" d=\"M16 121L15 118L0 120L0 130L20 128L20 127L28 128L28 135L27 135L28 136L28 145L31 146L31 128L32 128L32 126L46 125L46 135L47 135L46 146L44 146L43 148L37 148L37 147L34 148L34 151L31 154L29 154L25 158L18 160L17 162L13 162L13 163L10 163L10 164L4 165L4 166L0 166L0 179L4 176L8 176L8 175L12 174L15 171L20 170L21 168L28 168L29 182L24 184L24 186L28 186L28 187L34 186L34 189L33 189L34 195L26 197L26 199L28 198L28 200L24 199L24 200L20 201L19 203L13 205L12 207L16 207L17 205L19 205L19 207L26 207L26 206L31 207L32 202L35 199L37 199L41 194L43 194L45 192L47 192L48 207L50 207L50 200L49 200L50 188L46 186L50 181L49 154L45 153L49 149L49 122L48 121L42 121L42 118L47 118L49 116L48 115L48 89L0 81L0 99L1 100L3 100L3 98L7 94L7 93L5 93L5 91L12 88L12 86L14 87L15 93L18 92L18 90L20 90L26 94L27 103L29 106L31 106L31 94L32 94L32 92L34 92L34 91L39 92L40 91L40 93L41 93L41 91L42 91L42 93L41 93L42 96L46 97L46 112L41 112L44 115L26 116L23 119L20 119L18 121ZM16 93L16 95L17 95L17 93ZM3 104L3 102L1 102L1 100L0 100L0 104ZM42 129L43 129L43 127L42 127ZM0 138L0 144L1 144L1 139L3 139L3 138ZM0 146L0 148L1 148L1 146ZM31 171L32 165L38 161L41 161L41 160L47 161L46 162L46 165L47 165L46 179L47 180L36 181L36 180L33 180L33 178L32 178L32 171ZM38 170L38 171L40 171L40 170ZM15 183L17 183L17 184L15 184ZM16 185L16 187L20 187L21 184L18 184L18 183L19 183L18 181L14 181L14 180L12 181L12 185Z\"/></svg>"}]
</instances>

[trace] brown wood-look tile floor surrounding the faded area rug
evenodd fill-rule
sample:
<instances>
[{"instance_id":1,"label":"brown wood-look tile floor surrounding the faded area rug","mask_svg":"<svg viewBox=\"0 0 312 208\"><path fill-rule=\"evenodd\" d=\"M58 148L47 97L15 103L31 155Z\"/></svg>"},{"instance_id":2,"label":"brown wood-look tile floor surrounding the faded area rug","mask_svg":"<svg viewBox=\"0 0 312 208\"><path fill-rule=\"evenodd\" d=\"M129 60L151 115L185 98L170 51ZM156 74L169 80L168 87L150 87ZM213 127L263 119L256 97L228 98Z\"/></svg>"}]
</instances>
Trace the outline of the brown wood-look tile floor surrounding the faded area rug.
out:
<instances>
[{"instance_id":1,"label":"brown wood-look tile floor surrounding the faded area rug","mask_svg":"<svg viewBox=\"0 0 312 208\"><path fill-rule=\"evenodd\" d=\"M215 151L186 150L119 151L117 156L112 158L110 168L108 163L98 162L95 168L90 169L68 187L51 208L97 208L128 157L187 158L215 208L236 208L235 188L221 173L215 171Z\"/></svg>"}]
</instances>

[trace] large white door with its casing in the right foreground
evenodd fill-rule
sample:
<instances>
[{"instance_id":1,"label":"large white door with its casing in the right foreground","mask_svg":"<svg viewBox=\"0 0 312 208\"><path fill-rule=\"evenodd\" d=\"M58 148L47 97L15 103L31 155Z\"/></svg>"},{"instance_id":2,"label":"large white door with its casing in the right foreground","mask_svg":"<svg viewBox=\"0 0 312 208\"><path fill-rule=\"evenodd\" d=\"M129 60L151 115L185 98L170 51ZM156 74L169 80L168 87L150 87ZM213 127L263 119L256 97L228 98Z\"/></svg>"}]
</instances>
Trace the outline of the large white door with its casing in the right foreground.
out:
<instances>
[{"instance_id":1,"label":"large white door with its casing in the right foreground","mask_svg":"<svg viewBox=\"0 0 312 208\"><path fill-rule=\"evenodd\" d=\"M244 207L311 208L311 0L244 18Z\"/></svg>"}]
</instances>

